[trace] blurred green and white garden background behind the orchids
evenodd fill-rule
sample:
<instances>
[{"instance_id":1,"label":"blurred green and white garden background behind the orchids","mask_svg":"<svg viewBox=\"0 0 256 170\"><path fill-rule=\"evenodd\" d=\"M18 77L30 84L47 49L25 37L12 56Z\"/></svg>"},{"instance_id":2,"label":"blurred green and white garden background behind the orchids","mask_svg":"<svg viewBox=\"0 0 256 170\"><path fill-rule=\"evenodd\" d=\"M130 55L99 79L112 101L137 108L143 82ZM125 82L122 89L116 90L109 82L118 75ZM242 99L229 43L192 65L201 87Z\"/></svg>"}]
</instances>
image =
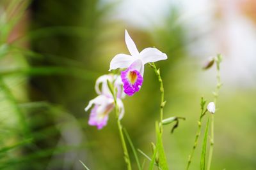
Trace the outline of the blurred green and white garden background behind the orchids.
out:
<instances>
[{"instance_id":1,"label":"blurred green and white garden background behind the orchids","mask_svg":"<svg viewBox=\"0 0 256 170\"><path fill-rule=\"evenodd\" d=\"M84 169L79 160L90 169L125 169L115 114L98 131L84 112L113 56L129 53L125 29L139 51L156 46L168 55L156 63L167 101L164 118L186 117L173 134L172 125L164 127L170 169L186 167L200 97L212 101L216 86L216 68L202 66L217 53L224 56L223 87L212 169L256 169L254 0L1 0L0 169ZM158 89L146 66L140 92L124 99L122 124L147 155L159 118ZM199 168L201 144L202 136L191 169ZM130 157L136 169L132 152Z\"/></svg>"}]
</instances>

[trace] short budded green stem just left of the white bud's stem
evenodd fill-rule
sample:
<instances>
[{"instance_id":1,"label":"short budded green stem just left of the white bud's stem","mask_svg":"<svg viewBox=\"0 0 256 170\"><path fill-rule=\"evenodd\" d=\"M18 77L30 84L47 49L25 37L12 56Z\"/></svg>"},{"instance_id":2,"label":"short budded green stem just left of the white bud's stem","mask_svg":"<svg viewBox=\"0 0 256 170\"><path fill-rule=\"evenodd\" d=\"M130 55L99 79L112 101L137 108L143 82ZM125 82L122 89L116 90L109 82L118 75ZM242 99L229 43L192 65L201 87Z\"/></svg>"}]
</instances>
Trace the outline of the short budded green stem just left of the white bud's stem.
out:
<instances>
[{"instance_id":1,"label":"short budded green stem just left of the white bud's stem","mask_svg":"<svg viewBox=\"0 0 256 170\"><path fill-rule=\"evenodd\" d=\"M189 169L189 166L191 164L196 146L198 144L198 138L200 136L201 127L202 127L202 118L204 117L206 112L207 112L207 110L204 111L204 106L201 106L201 113L200 113L200 117L199 117L199 120L198 120L198 127L197 127L197 131L196 131L195 142L194 142L192 151L191 151L190 155L188 156L188 164L187 164L187 167L186 167L187 170Z\"/></svg>"}]
</instances>

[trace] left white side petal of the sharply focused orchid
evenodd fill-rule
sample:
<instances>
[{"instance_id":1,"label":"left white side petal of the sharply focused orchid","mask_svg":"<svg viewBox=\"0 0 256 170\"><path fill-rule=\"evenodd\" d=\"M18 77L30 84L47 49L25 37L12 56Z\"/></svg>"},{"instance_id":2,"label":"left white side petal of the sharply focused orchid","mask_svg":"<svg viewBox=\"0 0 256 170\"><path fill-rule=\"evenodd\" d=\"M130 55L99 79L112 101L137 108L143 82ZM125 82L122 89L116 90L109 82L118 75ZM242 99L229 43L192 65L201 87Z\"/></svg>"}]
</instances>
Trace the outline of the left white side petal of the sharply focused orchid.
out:
<instances>
[{"instance_id":1,"label":"left white side petal of the sharply focused orchid","mask_svg":"<svg viewBox=\"0 0 256 170\"><path fill-rule=\"evenodd\" d=\"M111 71L112 69L117 69L117 68L129 67L133 61L134 61L134 57L132 57L131 55L120 53L111 60L108 71Z\"/></svg>"}]
</instances>

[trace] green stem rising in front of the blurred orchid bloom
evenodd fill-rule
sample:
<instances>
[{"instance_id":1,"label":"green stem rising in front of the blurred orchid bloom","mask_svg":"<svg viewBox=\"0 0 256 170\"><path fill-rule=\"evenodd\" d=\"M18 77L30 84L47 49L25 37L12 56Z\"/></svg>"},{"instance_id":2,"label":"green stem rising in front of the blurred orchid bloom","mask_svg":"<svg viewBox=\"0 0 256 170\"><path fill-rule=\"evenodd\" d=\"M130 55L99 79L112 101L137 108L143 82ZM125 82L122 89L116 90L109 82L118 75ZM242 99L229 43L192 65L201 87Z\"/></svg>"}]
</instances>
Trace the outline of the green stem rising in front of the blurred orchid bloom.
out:
<instances>
[{"instance_id":1,"label":"green stem rising in front of the blurred orchid bloom","mask_svg":"<svg viewBox=\"0 0 256 170\"><path fill-rule=\"evenodd\" d=\"M116 91L116 90L114 90L114 91ZM128 153L127 146L126 146L125 139L124 139L123 127L122 127L122 124L119 119L119 109L118 109L118 104L116 102L116 92L115 92L115 95L113 95L113 97L114 97L114 102L115 102L116 122L117 122L118 131L119 131L120 139L121 139L123 150L124 150L124 160L127 164L127 169L131 170L132 169L131 160L130 160L129 153Z\"/></svg>"}]
</instances>

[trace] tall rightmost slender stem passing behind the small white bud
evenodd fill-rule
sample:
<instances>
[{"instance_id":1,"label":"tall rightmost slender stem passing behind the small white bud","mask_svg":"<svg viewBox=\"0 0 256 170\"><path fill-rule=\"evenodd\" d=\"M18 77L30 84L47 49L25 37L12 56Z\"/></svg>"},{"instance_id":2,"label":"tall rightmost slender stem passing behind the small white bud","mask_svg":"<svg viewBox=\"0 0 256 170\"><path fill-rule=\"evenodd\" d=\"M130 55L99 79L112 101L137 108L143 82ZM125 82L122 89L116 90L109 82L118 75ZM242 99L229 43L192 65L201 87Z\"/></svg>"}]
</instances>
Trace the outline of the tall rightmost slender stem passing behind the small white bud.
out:
<instances>
[{"instance_id":1,"label":"tall rightmost slender stem passing behind the small white bud","mask_svg":"<svg viewBox=\"0 0 256 170\"><path fill-rule=\"evenodd\" d=\"M216 59L216 66L217 66L217 85L216 90L214 92L214 104L216 106L216 102L219 96L220 87L221 87L221 79L220 79L220 62L221 62L221 56L218 55ZM211 161L212 161L212 153L213 153L213 146L214 146L214 114L211 115L211 141L210 141L210 150L209 150L209 157L208 157L208 164L207 164L207 170L211 169Z\"/></svg>"}]
</instances>

